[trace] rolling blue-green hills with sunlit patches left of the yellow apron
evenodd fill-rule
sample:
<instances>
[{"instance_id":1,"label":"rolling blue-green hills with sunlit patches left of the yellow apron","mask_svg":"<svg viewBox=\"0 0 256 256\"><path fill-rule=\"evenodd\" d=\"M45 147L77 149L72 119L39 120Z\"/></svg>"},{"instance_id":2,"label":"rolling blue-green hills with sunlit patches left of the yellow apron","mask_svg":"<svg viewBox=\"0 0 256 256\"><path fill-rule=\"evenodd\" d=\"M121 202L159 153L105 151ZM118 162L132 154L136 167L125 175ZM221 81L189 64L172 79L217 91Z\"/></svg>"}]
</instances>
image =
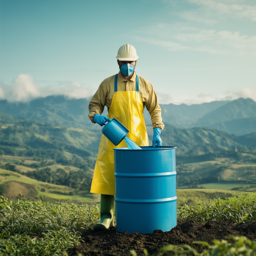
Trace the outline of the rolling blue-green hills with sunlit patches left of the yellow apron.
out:
<instances>
[{"instance_id":1,"label":"rolling blue-green hills with sunlit patches left of the yellow apron","mask_svg":"<svg viewBox=\"0 0 256 256\"><path fill-rule=\"evenodd\" d=\"M89 189L100 133L0 113L0 167L36 180ZM94 152L92 151L94 150Z\"/></svg>"}]
</instances>

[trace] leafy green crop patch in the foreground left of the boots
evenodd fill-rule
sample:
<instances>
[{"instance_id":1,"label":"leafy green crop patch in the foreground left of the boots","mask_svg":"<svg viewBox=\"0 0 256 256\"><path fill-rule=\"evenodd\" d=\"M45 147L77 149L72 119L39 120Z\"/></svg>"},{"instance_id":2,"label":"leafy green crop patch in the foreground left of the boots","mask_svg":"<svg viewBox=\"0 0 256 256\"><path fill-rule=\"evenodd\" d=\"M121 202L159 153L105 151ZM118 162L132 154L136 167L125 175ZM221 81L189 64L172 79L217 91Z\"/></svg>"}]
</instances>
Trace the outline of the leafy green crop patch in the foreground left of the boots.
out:
<instances>
[{"instance_id":1,"label":"leafy green crop patch in the foreground left of the boots","mask_svg":"<svg viewBox=\"0 0 256 256\"><path fill-rule=\"evenodd\" d=\"M59 255L99 221L99 205L8 201L0 196L0 255Z\"/></svg>"}]
</instances>

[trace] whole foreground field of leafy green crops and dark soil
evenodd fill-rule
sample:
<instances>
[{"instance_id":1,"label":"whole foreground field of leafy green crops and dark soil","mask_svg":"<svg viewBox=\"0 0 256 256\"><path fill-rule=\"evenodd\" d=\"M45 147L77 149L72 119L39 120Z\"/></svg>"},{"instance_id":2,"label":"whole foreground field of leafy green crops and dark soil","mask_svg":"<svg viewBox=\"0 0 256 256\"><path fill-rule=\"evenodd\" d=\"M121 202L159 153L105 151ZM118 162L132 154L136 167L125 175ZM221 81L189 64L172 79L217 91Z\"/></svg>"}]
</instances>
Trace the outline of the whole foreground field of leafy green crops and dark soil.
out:
<instances>
[{"instance_id":1,"label":"whole foreground field of leafy green crops and dark soil","mask_svg":"<svg viewBox=\"0 0 256 256\"><path fill-rule=\"evenodd\" d=\"M0 196L0 207L0 255L256 253L256 193L178 207L177 227L153 234L118 233L115 227L95 232L92 227L100 218L99 205L12 201ZM221 242L212 243L214 239ZM195 241L204 241L204 246Z\"/></svg>"}]
</instances>

